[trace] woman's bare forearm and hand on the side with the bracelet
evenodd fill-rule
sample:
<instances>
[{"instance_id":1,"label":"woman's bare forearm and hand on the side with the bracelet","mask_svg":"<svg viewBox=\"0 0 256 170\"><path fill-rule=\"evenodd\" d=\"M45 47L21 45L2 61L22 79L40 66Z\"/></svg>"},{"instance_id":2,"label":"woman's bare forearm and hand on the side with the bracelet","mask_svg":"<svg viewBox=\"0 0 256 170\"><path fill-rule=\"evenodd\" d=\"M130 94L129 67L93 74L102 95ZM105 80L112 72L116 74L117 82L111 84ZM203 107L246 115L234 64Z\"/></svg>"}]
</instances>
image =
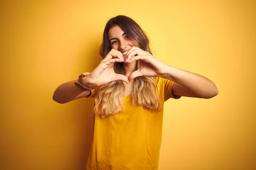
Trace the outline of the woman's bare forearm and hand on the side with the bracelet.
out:
<instances>
[{"instance_id":1,"label":"woman's bare forearm and hand on the side with the bracelet","mask_svg":"<svg viewBox=\"0 0 256 170\"><path fill-rule=\"evenodd\" d=\"M99 87L109 82L122 80L129 83L128 78L122 74L116 74L113 66L115 62L123 62L124 57L120 51L112 49L99 65L87 77L83 78L83 83L87 88ZM52 99L58 103L67 103L75 99L87 97L91 91L83 91L78 88L74 82L77 80L66 82L54 91Z\"/></svg>"}]
</instances>

